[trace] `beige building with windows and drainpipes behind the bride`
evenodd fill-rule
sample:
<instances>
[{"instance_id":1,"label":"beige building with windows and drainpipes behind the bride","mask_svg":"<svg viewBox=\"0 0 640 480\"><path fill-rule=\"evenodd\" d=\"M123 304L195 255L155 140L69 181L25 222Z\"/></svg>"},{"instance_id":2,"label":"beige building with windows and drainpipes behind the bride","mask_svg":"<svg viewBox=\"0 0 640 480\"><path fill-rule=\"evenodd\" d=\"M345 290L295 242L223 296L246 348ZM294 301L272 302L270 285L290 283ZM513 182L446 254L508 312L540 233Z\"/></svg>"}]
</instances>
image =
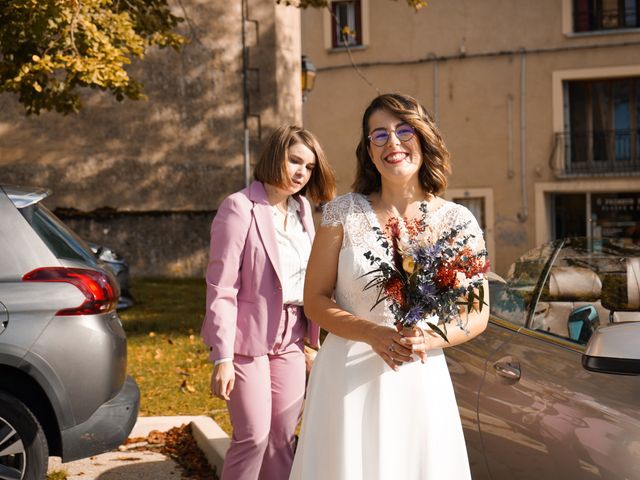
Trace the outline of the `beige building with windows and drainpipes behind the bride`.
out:
<instances>
[{"instance_id":1,"label":"beige building with windows and drainpipes behind the bride","mask_svg":"<svg viewBox=\"0 0 640 480\"><path fill-rule=\"evenodd\" d=\"M377 92L431 110L451 151L447 197L476 214L494 269L566 236L640 233L637 1L332 1L302 15L317 67L305 126L349 190ZM349 48L341 38L347 26ZM354 68L354 64L357 68Z\"/></svg>"}]
</instances>

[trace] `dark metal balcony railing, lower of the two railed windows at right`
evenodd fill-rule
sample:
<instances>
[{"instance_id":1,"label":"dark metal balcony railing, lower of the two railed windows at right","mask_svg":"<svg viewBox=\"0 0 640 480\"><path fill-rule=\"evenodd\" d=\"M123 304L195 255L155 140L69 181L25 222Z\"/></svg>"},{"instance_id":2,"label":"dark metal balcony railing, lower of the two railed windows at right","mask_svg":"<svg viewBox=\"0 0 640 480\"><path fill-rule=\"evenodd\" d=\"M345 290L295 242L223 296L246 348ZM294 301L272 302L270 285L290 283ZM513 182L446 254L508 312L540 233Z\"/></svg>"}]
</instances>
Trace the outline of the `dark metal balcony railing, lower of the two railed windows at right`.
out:
<instances>
[{"instance_id":1,"label":"dark metal balcony railing, lower of the two railed windows at right","mask_svg":"<svg viewBox=\"0 0 640 480\"><path fill-rule=\"evenodd\" d=\"M549 160L561 177L640 174L640 130L556 133Z\"/></svg>"}]
</instances>

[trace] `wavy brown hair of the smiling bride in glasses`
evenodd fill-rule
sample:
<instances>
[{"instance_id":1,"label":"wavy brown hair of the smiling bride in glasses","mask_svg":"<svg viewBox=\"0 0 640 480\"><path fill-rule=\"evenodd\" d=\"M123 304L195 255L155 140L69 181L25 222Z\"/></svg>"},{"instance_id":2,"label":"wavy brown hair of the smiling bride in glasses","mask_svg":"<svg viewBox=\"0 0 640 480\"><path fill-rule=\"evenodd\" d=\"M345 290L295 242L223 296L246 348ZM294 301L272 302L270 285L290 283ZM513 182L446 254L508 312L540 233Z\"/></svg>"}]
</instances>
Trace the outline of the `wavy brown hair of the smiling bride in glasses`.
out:
<instances>
[{"instance_id":1,"label":"wavy brown hair of the smiling bride in glasses","mask_svg":"<svg viewBox=\"0 0 640 480\"><path fill-rule=\"evenodd\" d=\"M447 188L447 175L451 173L449 151L433 119L415 98L398 93L386 93L373 99L362 116L362 136L356 148L357 171L352 188L368 195L379 192L380 173L369 156L369 119L377 110L385 110L411 125L420 141L422 166L418 172L425 193L439 195Z\"/></svg>"}]
</instances>

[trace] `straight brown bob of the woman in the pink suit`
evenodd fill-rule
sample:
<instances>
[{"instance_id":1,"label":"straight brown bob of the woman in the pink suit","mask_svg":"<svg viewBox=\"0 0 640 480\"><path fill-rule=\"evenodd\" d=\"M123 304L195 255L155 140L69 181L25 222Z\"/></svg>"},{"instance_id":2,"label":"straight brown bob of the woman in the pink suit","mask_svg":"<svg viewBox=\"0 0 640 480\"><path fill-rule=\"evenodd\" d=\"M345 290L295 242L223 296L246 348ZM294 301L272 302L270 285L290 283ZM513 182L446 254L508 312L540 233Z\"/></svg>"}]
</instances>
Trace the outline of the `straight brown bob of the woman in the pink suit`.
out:
<instances>
[{"instance_id":1,"label":"straight brown bob of the woman in the pink suit","mask_svg":"<svg viewBox=\"0 0 640 480\"><path fill-rule=\"evenodd\" d=\"M298 143L316 157L311 178L300 194L306 194L314 203L331 200L336 193L336 180L320 142L310 131L295 125L282 126L267 139L253 173L254 178L277 187L285 186L288 182L289 148Z\"/></svg>"}]
</instances>

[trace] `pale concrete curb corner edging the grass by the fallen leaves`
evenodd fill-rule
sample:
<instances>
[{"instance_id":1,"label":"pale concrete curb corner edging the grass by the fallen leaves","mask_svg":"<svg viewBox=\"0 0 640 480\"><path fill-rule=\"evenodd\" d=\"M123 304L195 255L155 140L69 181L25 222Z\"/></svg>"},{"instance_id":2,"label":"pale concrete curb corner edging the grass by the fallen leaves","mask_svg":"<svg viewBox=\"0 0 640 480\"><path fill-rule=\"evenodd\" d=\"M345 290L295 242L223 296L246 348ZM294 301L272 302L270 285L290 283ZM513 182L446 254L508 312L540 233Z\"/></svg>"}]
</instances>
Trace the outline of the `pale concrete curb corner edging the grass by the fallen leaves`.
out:
<instances>
[{"instance_id":1,"label":"pale concrete curb corner edging the grass by the fallen leaves","mask_svg":"<svg viewBox=\"0 0 640 480\"><path fill-rule=\"evenodd\" d=\"M179 427L185 423L191 424L193 438L198 443L198 447L215 467L218 475L222 473L224 457L229 449L231 440L220 426L211 417L205 415L197 416L175 416L175 417L138 417L129 437L146 437L151 430L166 432L173 427Z\"/></svg>"}]
</instances>

